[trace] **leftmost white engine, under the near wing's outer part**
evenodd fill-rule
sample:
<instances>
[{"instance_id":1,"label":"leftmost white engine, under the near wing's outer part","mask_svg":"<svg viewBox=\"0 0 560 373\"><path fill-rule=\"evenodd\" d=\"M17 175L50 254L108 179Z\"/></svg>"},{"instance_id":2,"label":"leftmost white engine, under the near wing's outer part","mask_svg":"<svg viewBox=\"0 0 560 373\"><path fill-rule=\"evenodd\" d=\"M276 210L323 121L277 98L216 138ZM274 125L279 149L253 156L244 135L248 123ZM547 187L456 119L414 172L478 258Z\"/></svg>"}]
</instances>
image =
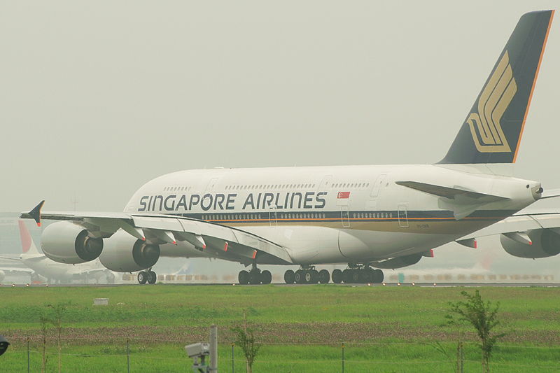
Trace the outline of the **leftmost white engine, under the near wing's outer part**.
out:
<instances>
[{"instance_id":1,"label":"leftmost white engine, under the near wing's outer part","mask_svg":"<svg viewBox=\"0 0 560 373\"><path fill-rule=\"evenodd\" d=\"M41 248L47 258L59 263L91 262L103 251L103 239L87 235L79 225L59 221L48 225L41 235Z\"/></svg>"}]
</instances>

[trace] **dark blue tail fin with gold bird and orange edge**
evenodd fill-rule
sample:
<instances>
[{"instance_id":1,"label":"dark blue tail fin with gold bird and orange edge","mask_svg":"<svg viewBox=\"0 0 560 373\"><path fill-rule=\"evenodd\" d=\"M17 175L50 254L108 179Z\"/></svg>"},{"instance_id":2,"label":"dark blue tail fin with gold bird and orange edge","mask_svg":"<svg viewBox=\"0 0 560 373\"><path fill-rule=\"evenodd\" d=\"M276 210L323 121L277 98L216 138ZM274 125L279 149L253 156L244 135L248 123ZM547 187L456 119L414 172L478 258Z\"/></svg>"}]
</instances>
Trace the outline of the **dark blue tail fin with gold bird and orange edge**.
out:
<instances>
[{"instance_id":1,"label":"dark blue tail fin with gold bird and orange edge","mask_svg":"<svg viewBox=\"0 0 560 373\"><path fill-rule=\"evenodd\" d=\"M554 10L526 13L440 164L514 163Z\"/></svg>"}]
</instances>

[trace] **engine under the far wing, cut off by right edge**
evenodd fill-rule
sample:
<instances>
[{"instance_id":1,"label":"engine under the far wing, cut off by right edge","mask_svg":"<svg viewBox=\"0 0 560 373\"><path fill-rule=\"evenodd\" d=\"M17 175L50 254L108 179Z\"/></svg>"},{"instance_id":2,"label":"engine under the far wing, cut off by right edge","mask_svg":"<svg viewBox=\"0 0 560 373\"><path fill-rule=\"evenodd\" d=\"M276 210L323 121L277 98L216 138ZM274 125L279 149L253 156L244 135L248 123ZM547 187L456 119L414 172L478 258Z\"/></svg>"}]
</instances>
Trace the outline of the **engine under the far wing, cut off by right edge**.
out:
<instances>
[{"instance_id":1,"label":"engine under the far wing, cut off by right edge","mask_svg":"<svg viewBox=\"0 0 560 373\"><path fill-rule=\"evenodd\" d=\"M533 244L521 244L500 234L500 243L507 253L519 258L548 258L560 253L560 234L552 230L530 230L528 237Z\"/></svg>"}]
</instances>

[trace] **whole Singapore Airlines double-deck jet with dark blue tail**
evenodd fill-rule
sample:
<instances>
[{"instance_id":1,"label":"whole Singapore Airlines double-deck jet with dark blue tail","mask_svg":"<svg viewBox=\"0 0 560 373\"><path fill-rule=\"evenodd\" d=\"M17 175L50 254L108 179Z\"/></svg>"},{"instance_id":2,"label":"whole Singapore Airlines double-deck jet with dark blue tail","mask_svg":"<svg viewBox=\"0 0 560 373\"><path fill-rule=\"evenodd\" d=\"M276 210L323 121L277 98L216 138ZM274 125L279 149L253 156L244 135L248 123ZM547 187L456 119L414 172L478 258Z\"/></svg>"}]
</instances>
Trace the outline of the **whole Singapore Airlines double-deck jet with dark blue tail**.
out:
<instances>
[{"instance_id":1,"label":"whole Singapore Airlines double-deck jet with dark blue tail","mask_svg":"<svg viewBox=\"0 0 560 373\"><path fill-rule=\"evenodd\" d=\"M556 196L507 167L519 153L553 15L521 17L436 164L179 171L142 185L123 213L41 213L41 202L22 218L65 220L41 238L52 260L99 258L113 271L141 271L140 283L155 282L151 267L161 255L250 265L240 283L269 283L262 264L300 265L285 272L287 283L381 282L381 269L413 265L450 241L475 246L469 234ZM560 223L551 217L548 223ZM560 251L554 227L534 216L514 219L500 225L508 252L540 258ZM329 263L349 268L314 268Z\"/></svg>"}]
</instances>

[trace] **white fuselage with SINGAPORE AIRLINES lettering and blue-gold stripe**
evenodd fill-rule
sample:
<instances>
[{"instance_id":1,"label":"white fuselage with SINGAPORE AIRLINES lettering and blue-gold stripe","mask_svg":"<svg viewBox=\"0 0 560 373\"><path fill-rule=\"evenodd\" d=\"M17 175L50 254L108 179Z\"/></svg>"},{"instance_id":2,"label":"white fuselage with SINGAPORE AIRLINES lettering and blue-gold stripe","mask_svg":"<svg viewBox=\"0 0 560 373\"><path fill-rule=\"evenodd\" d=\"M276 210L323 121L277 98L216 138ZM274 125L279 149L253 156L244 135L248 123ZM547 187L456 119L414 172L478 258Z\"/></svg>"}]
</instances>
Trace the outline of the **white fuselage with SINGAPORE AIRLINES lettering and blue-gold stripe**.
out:
<instances>
[{"instance_id":1,"label":"white fuselage with SINGAPORE AIRLINES lettering and blue-gold stripe","mask_svg":"<svg viewBox=\"0 0 560 373\"><path fill-rule=\"evenodd\" d=\"M238 227L284 246L295 264L370 262L425 253L535 202L540 183L484 171L477 165L179 171L143 185L125 212ZM454 209L464 202L396 181L460 187L503 200L481 202L456 218ZM206 256L184 241L165 245L162 255Z\"/></svg>"}]
</instances>

